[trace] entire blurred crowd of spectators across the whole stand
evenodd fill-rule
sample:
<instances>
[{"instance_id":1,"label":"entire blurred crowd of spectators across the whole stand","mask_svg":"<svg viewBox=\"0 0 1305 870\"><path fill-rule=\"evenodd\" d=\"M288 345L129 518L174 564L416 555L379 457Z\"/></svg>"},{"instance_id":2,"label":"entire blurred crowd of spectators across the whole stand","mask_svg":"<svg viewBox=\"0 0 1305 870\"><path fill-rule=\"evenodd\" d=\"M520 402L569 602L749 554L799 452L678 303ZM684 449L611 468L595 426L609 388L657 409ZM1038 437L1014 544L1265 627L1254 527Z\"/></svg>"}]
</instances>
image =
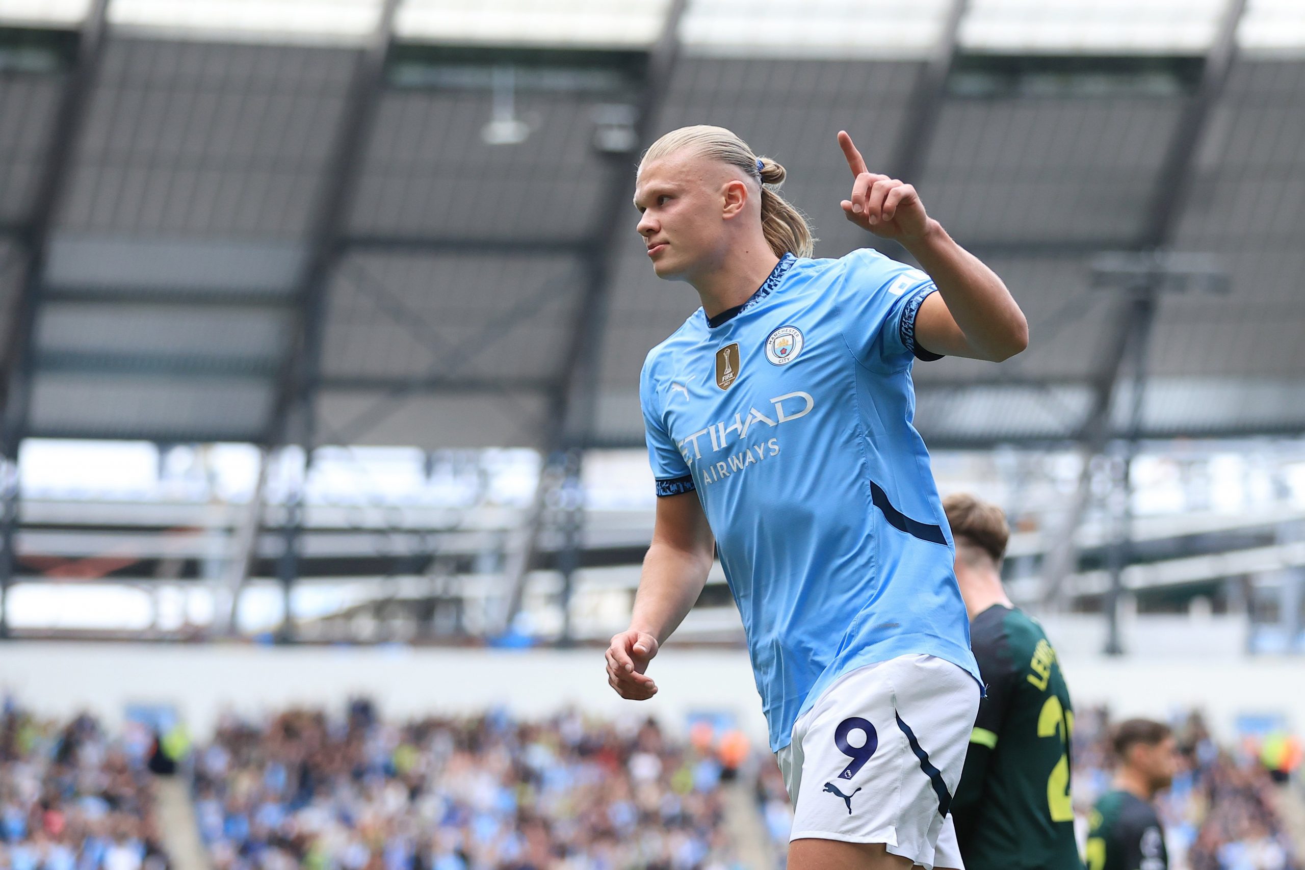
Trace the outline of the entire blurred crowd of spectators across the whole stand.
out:
<instances>
[{"instance_id":1,"label":"entire blurred crowd of spectators across the whole stand","mask_svg":"<svg viewBox=\"0 0 1305 870\"><path fill-rule=\"evenodd\" d=\"M1111 788L1105 710L1079 710L1081 819ZM1160 793L1172 870L1302 870L1279 813L1284 771L1263 740L1220 745L1199 715L1174 724L1180 770ZM737 736L736 736L737 737ZM168 870L140 728L110 740L90 716L0 713L0 867ZM153 757L151 757L153 753ZM381 720L290 710L224 716L193 758L214 870L736 870L723 784L754 780L775 866L792 814L774 759L710 728L672 740L651 720L568 712L518 721Z\"/></svg>"}]
</instances>

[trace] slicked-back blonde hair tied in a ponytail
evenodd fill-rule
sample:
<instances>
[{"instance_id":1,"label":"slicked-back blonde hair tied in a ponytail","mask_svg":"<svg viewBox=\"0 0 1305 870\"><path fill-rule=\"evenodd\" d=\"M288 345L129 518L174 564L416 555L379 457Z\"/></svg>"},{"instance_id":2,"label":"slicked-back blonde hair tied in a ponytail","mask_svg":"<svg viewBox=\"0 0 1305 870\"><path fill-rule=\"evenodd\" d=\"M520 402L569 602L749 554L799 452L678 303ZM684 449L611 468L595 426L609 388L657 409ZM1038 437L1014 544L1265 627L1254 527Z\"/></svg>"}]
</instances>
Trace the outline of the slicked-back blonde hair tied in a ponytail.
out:
<instances>
[{"instance_id":1,"label":"slicked-back blonde hair tied in a ponytail","mask_svg":"<svg viewBox=\"0 0 1305 870\"><path fill-rule=\"evenodd\" d=\"M776 257L793 253L797 257L810 257L814 253L816 239L801 211L779 196L779 185L784 183L784 167L769 157L757 157L748 143L723 127L698 124L671 130L643 153L643 163L656 160L683 149L692 149L697 155L720 160L737 168L749 179L756 179L761 187L761 230L766 243ZM761 171L757 162L761 160Z\"/></svg>"}]
</instances>

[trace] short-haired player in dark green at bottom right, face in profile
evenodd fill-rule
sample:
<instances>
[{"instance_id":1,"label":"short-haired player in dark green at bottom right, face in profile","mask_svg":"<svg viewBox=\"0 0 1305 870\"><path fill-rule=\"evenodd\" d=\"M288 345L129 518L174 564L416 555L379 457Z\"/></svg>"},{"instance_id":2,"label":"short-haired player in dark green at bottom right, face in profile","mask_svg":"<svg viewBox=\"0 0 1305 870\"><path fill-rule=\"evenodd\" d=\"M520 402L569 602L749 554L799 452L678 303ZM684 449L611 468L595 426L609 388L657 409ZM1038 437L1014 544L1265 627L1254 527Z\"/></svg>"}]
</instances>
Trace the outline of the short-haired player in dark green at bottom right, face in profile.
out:
<instances>
[{"instance_id":1,"label":"short-haired player in dark green at bottom right, face in profile","mask_svg":"<svg viewBox=\"0 0 1305 870\"><path fill-rule=\"evenodd\" d=\"M1087 870L1167 870L1164 828L1151 802L1173 781L1177 742L1168 725L1130 719L1114 729L1114 788L1088 818Z\"/></svg>"}]
</instances>

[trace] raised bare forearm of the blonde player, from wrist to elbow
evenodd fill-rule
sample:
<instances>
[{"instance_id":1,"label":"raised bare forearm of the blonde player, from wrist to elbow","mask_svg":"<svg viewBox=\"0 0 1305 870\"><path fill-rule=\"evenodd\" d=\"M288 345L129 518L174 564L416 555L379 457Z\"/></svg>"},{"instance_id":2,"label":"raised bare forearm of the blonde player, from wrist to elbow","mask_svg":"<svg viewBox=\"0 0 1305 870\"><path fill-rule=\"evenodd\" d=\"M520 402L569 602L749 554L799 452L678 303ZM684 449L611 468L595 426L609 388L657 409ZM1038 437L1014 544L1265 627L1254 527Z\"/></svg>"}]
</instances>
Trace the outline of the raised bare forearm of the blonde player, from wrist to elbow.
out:
<instances>
[{"instance_id":1,"label":"raised bare forearm of the blonde player, from wrist to elbow","mask_svg":"<svg viewBox=\"0 0 1305 870\"><path fill-rule=\"evenodd\" d=\"M929 219L928 232L903 245L937 284L957 326L984 359L1000 363L1028 347L1028 322L1006 284L942 224Z\"/></svg>"}]
</instances>

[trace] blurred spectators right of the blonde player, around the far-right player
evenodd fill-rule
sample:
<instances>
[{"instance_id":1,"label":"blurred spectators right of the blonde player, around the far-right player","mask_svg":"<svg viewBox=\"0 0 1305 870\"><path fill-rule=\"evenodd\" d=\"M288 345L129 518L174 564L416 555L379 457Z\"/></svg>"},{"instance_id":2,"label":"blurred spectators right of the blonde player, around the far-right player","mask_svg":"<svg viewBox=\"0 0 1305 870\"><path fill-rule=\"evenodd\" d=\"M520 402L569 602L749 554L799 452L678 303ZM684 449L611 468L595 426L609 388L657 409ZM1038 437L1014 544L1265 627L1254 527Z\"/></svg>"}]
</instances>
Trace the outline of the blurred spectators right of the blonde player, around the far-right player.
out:
<instances>
[{"instance_id":1,"label":"blurred spectators right of the blonde player, around the far-right player","mask_svg":"<svg viewBox=\"0 0 1305 870\"><path fill-rule=\"evenodd\" d=\"M1101 708L1075 717L1074 801L1083 815L1111 787L1109 725ZM1220 746L1199 713L1173 725L1178 773L1156 801L1171 870L1298 870L1257 741Z\"/></svg>"}]
</instances>

